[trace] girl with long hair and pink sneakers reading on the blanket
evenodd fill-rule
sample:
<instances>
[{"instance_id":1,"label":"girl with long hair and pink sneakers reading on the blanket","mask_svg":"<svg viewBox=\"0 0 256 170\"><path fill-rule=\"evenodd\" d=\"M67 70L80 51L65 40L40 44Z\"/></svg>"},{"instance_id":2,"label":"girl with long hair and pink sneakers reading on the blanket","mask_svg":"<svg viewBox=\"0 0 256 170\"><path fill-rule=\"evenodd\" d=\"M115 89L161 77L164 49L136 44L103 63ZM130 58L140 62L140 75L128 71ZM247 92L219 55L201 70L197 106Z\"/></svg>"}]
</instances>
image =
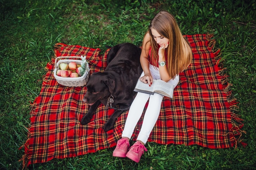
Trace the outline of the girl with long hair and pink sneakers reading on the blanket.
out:
<instances>
[{"instance_id":1,"label":"girl with long hair and pink sneakers reading on the blanket","mask_svg":"<svg viewBox=\"0 0 256 170\"><path fill-rule=\"evenodd\" d=\"M150 22L142 42L140 63L143 73L140 81L150 86L153 79L162 79L175 87L179 82L179 73L189 66L191 60L191 48L183 38L175 18L166 11L159 12ZM129 140L148 99L137 141L130 147ZM113 152L114 157L128 157L139 162L144 150L147 151L144 145L158 119L162 99L163 96L158 93L137 93L130 106L122 138L117 141Z\"/></svg>"}]
</instances>

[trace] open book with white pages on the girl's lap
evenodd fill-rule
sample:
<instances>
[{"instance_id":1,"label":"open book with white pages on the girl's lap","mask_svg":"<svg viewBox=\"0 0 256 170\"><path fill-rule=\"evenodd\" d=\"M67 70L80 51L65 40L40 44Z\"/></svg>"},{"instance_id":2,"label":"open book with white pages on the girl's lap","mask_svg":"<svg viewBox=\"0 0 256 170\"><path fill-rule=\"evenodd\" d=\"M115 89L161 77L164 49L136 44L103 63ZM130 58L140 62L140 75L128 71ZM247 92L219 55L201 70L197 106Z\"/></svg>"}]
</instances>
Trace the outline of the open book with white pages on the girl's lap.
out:
<instances>
[{"instance_id":1,"label":"open book with white pages on the girl's lap","mask_svg":"<svg viewBox=\"0 0 256 170\"><path fill-rule=\"evenodd\" d=\"M149 86L147 83L141 82L138 79L134 91L148 93L150 95L153 95L154 93L159 93L161 95L173 98L173 89L173 85L168 84L161 79L153 79L153 83L151 84L151 86Z\"/></svg>"}]
</instances>

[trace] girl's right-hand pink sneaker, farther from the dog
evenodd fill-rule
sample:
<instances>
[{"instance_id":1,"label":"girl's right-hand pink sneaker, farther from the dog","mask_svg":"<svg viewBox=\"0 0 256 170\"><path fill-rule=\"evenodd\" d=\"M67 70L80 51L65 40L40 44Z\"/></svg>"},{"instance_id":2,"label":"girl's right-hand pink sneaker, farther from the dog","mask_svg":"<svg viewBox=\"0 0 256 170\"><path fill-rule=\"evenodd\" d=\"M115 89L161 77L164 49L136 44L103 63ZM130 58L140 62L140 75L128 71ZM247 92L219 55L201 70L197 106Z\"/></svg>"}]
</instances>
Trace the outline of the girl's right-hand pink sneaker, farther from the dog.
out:
<instances>
[{"instance_id":1,"label":"girl's right-hand pink sneaker, farther from the dog","mask_svg":"<svg viewBox=\"0 0 256 170\"><path fill-rule=\"evenodd\" d=\"M126 157L139 163L140 157L144 153L144 150L148 151L144 145L142 145L139 141L136 141L127 152Z\"/></svg>"}]
</instances>

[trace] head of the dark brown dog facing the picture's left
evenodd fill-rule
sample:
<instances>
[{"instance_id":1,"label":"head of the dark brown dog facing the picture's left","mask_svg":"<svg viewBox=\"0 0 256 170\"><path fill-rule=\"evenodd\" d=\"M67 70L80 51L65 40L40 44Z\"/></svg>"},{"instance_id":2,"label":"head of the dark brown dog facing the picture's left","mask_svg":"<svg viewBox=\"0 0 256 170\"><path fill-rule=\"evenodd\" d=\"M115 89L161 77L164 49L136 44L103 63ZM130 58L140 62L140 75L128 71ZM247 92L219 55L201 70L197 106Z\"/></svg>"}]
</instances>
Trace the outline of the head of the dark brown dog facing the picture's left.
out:
<instances>
[{"instance_id":1,"label":"head of the dark brown dog facing the picture's left","mask_svg":"<svg viewBox=\"0 0 256 170\"><path fill-rule=\"evenodd\" d=\"M115 88L115 81L105 73L93 73L88 80L87 92L83 97L83 102L92 105L97 100L108 98Z\"/></svg>"}]
</instances>

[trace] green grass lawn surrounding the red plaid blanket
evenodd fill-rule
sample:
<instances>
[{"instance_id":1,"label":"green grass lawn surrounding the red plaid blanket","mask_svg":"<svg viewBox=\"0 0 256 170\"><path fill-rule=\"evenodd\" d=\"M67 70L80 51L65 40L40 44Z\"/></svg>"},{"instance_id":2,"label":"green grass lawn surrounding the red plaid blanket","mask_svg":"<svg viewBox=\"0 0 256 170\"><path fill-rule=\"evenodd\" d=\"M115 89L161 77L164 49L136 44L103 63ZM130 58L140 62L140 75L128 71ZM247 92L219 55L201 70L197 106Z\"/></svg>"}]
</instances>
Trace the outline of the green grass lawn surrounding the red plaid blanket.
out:
<instances>
[{"instance_id":1,"label":"green grass lawn surrounding the red plaid blanket","mask_svg":"<svg viewBox=\"0 0 256 170\"><path fill-rule=\"evenodd\" d=\"M165 9L183 34L213 33L233 84L247 147L208 149L148 143L140 163L105 149L54 159L30 169L168 170L254 169L256 165L255 0L0 0L0 169L20 169L18 148L27 139L30 102L39 95L45 66L57 42L106 50L122 42L141 44L149 21Z\"/></svg>"}]
</instances>

